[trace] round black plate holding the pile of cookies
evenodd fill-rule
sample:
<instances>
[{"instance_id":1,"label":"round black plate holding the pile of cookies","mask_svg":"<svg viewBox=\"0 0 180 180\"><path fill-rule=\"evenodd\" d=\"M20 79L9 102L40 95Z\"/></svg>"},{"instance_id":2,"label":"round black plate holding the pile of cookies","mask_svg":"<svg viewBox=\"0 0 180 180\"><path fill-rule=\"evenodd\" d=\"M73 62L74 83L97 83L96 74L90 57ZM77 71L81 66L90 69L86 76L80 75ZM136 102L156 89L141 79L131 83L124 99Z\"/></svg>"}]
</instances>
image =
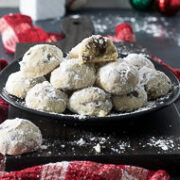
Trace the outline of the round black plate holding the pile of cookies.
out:
<instances>
[{"instance_id":1,"label":"round black plate holding the pile of cookies","mask_svg":"<svg viewBox=\"0 0 180 180\"><path fill-rule=\"evenodd\" d=\"M4 86L7 81L8 76L16 71L19 71L19 61L15 60L12 64L10 64L8 67L6 67L1 73L0 73L0 97L8 102L10 105L21 109L23 111L26 111L28 113L33 113L39 116L44 116L44 117L49 117L51 119L60 119L62 122L97 122L97 121L119 121L121 119L127 119L127 118L134 118L138 117L140 115L144 115L146 113L150 113L156 110L159 110L161 108L164 108L170 104L172 104L179 96L180 94L180 87L179 87L179 81L176 78L176 76L170 72L167 68L163 67L157 62L154 62L154 65L156 69L163 71L172 81L173 83L173 89L172 91L165 97L165 98L160 98L157 99L156 101L150 102L150 105L148 108L142 108L140 110L136 110L133 112L128 112L128 113L112 113L111 115L107 117L88 117L88 116L81 116L81 115L73 115L70 112L66 112L65 114L55 114L55 113L48 113L48 112L42 112L42 111L37 111L33 110L30 108L27 108L23 105L22 100L12 97L8 95L4 91Z\"/></svg>"}]
</instances>

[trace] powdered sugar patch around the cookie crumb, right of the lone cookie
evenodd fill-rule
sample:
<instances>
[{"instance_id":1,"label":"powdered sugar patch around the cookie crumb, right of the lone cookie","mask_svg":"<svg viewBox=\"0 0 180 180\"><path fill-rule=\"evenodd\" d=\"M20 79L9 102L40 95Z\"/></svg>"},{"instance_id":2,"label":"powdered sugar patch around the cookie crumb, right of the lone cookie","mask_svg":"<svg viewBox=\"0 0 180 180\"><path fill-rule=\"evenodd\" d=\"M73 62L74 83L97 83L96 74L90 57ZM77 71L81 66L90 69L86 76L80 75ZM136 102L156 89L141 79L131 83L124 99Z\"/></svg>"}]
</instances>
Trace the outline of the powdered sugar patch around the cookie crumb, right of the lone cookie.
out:
<instances>
[{"instance_id":1,"label":"powdered sugar patch around the cookie crumb, right of the lone cookie","mask_svg":"<svg viewBox=\"0 0 180 180\"><path fill-rule=\"evenodd\" d=\"M128 139L119 139L118 142L115 142L114 137L111 135L103 137L88 133L86 135L82 134L81 138L77 140L71 140L67 142L61 142L59 140L53 140L53 142L51 140L51 142L49 142L48 140L44 140L44 144L41 146L39 152L46 151L49 154L51 151L54 151L54 148L56 148L59 155L65 152L64 149L68 149L68 151L71 151L73 154L78 153L78 151L80 152L81 149L84 155L88 153L104 154L107 151L109 153L121 154L124 153L128 148L134 151Z\"/></svg>"}]
</instances>

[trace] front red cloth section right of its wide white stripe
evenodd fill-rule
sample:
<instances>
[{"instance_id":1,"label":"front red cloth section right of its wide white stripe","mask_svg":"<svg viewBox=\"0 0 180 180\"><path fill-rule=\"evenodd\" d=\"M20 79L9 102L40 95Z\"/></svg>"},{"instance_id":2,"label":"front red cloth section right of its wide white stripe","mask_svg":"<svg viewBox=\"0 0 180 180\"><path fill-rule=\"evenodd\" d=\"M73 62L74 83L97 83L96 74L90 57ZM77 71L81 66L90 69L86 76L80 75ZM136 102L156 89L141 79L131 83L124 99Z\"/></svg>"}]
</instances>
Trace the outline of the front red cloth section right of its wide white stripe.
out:
<instances>
[{"instance_id":1,"label":"front red cloth section right of its wide white stripe","mask_svg":"<svg viewBox=\"0 0 180 180\"><path fill-rule=\"evenodd\" d=\"M93 180L169 180L170 176L165 171L149 171L144 168L101 164L90 161L74 161L67 168L66 180L71 179L93 179Z\"/></svg>"}]
</instances>

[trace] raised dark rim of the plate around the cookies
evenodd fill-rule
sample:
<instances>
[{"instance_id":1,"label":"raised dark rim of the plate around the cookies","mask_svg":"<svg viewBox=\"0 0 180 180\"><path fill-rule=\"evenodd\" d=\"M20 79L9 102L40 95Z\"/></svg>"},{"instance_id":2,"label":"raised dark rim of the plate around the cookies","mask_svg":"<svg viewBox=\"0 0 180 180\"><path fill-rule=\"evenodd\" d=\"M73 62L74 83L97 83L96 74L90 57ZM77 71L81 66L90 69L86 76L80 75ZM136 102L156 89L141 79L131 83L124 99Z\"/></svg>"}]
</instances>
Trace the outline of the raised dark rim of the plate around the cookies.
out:
<instances>
[{"instance_id":1,"label":"raised dark rim of the plate around the cookies","mask_svg":"<svg viewBox=\"0 0 180 180\"><path fill-rule=\"evenodd\" d=\"M165 108L166 106L175 102L176 99L179 97L179 94L180 94L180 85L179 85L179 81L178 81L177 77L171 71L169 71L167 68L163 67L161 64L152 61L155 65L155 67L158 70L163 71L171 79L171 81L175 84L175 86L177 87L176 89L173 89L173 92L172 92L173 95L171 94L171 96L173 96L173 97L170 96L169 99L166 102L164 102L163 104L157 104L157 106L155 106L155 107L145 109L142 111L132 111L129 113L124 113L124 114L123 113L118 114L116 112L117 115L116 115L116 113L113 113L113 114L109 114L109 116L106 116L106 117L81 116L81 115L77 115L77 114L57 114L57 113L49 113L49 112L44 112L44 111L38 111L38 110L27 108L27 107L23 106L22 104L13 101L13 99L10 98L9 96L8 96L8 98L6 96L4 96L4 90L3 89L4 89L5 82L7 80L7 77L9 76L9 74L17 71L17 69L15 69L15 70L10 72L9 69L13 65L14 66L17 65L19 61L20 61L20 59L14 60L14 62L12 62L10 65L8 65L0 73L0 82L1 82L1 84L0 84L0 97L4 101L6 101L8 104L12 105L15 108L27 111L29 113L34 113L34 114L37 114L40 116L46 116L49 118L61 119L62 121L68 121L68 120L70 120L70 121L75 120L77 122L78 121L92 122L92 121L102 121L102 120L103 121L104 120L105 121L112 121L112 120L120 120L120 119L124 119L124 118L126 119L126 118L138 117L138 116L141 116L141 115L151 113L153 111L157 111L157 110L160 110L162 108ZM2 77L4 77L4 79Z\"/></svg>"}]
</instances>

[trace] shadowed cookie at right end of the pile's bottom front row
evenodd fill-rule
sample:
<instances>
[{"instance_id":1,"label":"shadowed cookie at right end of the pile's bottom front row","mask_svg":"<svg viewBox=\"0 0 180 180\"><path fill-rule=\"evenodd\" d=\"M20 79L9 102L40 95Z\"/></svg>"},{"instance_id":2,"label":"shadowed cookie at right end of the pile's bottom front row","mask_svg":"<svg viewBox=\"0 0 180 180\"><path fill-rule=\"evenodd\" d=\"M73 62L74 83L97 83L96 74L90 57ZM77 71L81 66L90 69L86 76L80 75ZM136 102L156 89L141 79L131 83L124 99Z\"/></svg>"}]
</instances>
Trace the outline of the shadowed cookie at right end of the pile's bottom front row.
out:
<instances>
[{"instance_id":1,"label":"shadowed cookie at right end of the pile's bottom front row","mask_svg":"<svg viewBox=\"0 0 180 180\"><path fill-rule=\"evenodd\" d=\"M134 91L122 95L113 96L112 102L116 111L128 112L137 110L147 103L147 93L144 87L138 85Z\"/></svg>"}]
</instances>

